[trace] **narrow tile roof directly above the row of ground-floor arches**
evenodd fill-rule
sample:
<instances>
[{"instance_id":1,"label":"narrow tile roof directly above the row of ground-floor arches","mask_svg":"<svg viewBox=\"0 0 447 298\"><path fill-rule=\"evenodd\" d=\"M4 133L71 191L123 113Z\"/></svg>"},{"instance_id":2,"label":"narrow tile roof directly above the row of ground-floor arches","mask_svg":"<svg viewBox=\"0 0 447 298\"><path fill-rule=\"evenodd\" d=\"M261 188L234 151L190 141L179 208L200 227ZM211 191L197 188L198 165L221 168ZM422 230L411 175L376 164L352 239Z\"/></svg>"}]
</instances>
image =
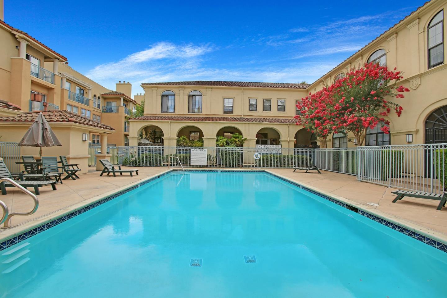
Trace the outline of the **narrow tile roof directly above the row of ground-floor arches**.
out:
<instances>
[{"instance_id":1,"label":"narrow tile roof directly above the row of ground-floor arches","mask_svg":"<svg viewBox=\"0 0 447 298\"><path fill-rule=\"evenodd\" d=\"M296 123L293 118L247 118L247 117L192 117L192 116L141 116L131 120L146 121L223 121L223 122L261 122L261 123Z\"/></svg>"}]
</instances>

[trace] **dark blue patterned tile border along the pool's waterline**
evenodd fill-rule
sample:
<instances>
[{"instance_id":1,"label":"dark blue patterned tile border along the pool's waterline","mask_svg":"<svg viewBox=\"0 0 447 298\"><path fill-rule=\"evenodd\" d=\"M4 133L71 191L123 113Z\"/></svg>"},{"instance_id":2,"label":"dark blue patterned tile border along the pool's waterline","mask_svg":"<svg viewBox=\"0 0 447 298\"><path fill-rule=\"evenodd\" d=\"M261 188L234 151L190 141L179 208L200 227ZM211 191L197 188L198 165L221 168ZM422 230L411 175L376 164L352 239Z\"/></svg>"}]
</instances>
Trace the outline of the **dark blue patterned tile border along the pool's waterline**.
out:
<instances>
[{"instance_id":1,"label":"dark blue patterned tile border along the pool's waterline","mask_svg":"<svg viewBox=\"0 0 447 298\"><path fill-rule=\"evenodd\" d=\"M78 209L76 211L73 211L71 213L63 215L63 216L61 216L59 218L56 218L55 220L52 220L52 221L47 222L47 223L44 223L44 224L42 224L40 226L37 226L37 227L35 227L35 228L31 229L31 230L25 231L22 234L14 236L13 238L7 239L4 242L0 243L0 251L6 249L8 247L11 247L14 244L17 244L17 243L19 243L19 242L21 242L23 240L26 240L26 239L34 236L34 235L37 235L37 234L39 234L39 233L41 233L41 232L43 232L43 231L45 231L45 230L47 230L47 229L49 229L49 228L51 228L53 226L59 225L61 222L67 221L68 219L70 219L72 217L75 217L76 215L84 213L84 212L86 212L86 211L88 211L88 210L90 210L92 208L95 208L95 207L97 207L97 206L99 206L101 204L104 204L104 203L106 203L106 202L108 202L110 200L113 200L113 199L117 198L118 196L121 196L121 195L123 195L123 194L125 194L127 192L130 192L130 191L132 191L132 190L134 190L136 188L139 188L139 187L141 187L141 186L143 186L143 185L145 185L147 183L150 183L150 182L154 181L155 179L159 179L160 177L168 175L169 173L179 172L179 171L181 172L182 170L174 169L172 171L165 172L163 174L157 175L157 176L152 177L152 178L150 178L148 180L145 180L145 181L143 181L141 183L138 183L138 184L135 184L135 185L133 185L131 187L128 187L128 188L126 188L126 189L124 189L124 190L122 190L120 192L114 193L113 195L107 196L107 197L105 197L105 198L103 198L103 199L101 199L101 200L99 200L97 202L94 202L94 203L92 203L92 204L90 204L88 206L85 206L85 207L83 207L81 209ZM323 198L325 200L328 200L328 201L330 201L330 202L332 202L334 204L340 205L340 206L342 206L342 207L344 207L346 209L350 209L351 211L356 212L356 213L358 213L360 215L363 215L364 217L367 217L367 218L369 218L369 219L371 219L373 221L377 221L378 223L380 223L380 224L382 224L384 226L388 226L389 228L391 228L393 230L396 230L396 231L398 231L398 232L400 232L402 234L405 234L405 235L407 235L407 236L409 236L411 238L414 238L414 239L416 239L418 241L426 243L426 244L430 245L431 247L434 247L434 248L437 248L437 249L439 249L441 251L447 252L447 244L446 243L441 243L441 242L439 242L437 240L431 239L431 238L429 238L429 237L427 237L425 235L422 235L422 234L419 234L419 233L417 233L415 231L409 230L409 229L407 229L407 228L405 228L403 226L399 226L398 224L396 224L394 222L388 221L388 220L386 220L384 218L378 217L378 216L376 216L374 214L371 214L371 213L368 213L368 212L366 212L364 210L358 209L355 206L351 206L350 204L346 204L346 203L344 203L342 201L336 200L336 199L331 198L329 196L326 196L326 195L324 195L324 194L322 194L320 192L316 192L316 191L314 191L314 190L312 190L312 189L310 189L308 187L305 187L305 186L303 186L303 185L301 185L299 183L296 183L295 181L291 181L289 179L285 179L285 178L283 178L281 176L275 175L275 174L273 174L271 172L267 172L265 170L248 170L248 169L247 170L211 170L211 169L210 170L194 170L194 169L188 169L188 170L184 170L184 171L185 172L215 172L215 173L222 173L222 172L223 173L225 173L225 172L266 173L266 174L272 175L273 177L275 177L277 179L283 180L284 182L287 182L287 183L290 183L290 184L292 184L292 185L294 185L296 187L299 187L300 189L303 189L303 190L305 190L307 192L310 192L310 193L312 193L312 194L314 194L316 196L319 196L319 197L321 197L321 198Z\"/></svg>"}]
</instances>

